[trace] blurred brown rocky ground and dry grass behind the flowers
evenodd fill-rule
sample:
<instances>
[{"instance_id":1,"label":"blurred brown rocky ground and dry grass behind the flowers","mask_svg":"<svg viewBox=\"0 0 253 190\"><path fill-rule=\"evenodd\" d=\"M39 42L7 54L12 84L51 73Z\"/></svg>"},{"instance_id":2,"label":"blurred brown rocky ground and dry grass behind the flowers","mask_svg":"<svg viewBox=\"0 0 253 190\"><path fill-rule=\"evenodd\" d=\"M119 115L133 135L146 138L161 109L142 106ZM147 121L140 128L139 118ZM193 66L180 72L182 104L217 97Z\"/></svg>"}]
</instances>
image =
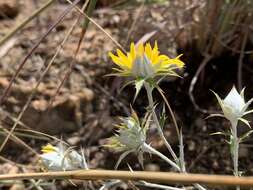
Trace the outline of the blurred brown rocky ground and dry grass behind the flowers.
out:
<instances>
[{"instance_id":1,"label":"blurred brown rocky ground and dry grass behind the flowers","mask_svg":"<svg viewBox=\"0 0 253 190\"><path fill-rule=\"evenodd\" d=\"M80 1L78 6L84 4ZM232 174L225 137L210 135L228 130L229 124L222 118L205 118L220 111L210 90L224 97L235 85L238 90L246 87L246 100L253 97L253 1L98 0L94 10L86 11L96 24L89 23L85 30L84 16L69 7L65 0L0 0L1 144L16 125L14 136L0 148L0 173L34 171L41 145L56 142L51 136L83 147L90 168L114 167L120 154L102 145L114 133L119 116L129 115L130 105L140 116L148 105L144 91L133 102L134 87L121 90L127 79L105 76L114 66L108 52L116 49L115 40L126 50L130 42L157 41L163 54L183 54L182 78L167 78L161 88L183 129L187 171ZM13 34L6 38L10 32ZM162 101L158 92L155 100ZM157 112L162 108L158 104ZM247 119L253 118L249 115ZM177 151L170 118L164 130ZM242 125L239 132L247 130ZM149 133L149 142L168 154L152 127ZM240 147L239 168L244 175L253 174L252 140ZM120 169L128 169L127 163L141 170L135 155L124 160ZM150 156L145 157L144 166L151 171L170 170ZM87 182L86 186L97 189L101 183ZM57 184L57 189L78 189L64 181ZM27 187L25 182L1 185L12 190Z\"/></svg>"}]
</instances>

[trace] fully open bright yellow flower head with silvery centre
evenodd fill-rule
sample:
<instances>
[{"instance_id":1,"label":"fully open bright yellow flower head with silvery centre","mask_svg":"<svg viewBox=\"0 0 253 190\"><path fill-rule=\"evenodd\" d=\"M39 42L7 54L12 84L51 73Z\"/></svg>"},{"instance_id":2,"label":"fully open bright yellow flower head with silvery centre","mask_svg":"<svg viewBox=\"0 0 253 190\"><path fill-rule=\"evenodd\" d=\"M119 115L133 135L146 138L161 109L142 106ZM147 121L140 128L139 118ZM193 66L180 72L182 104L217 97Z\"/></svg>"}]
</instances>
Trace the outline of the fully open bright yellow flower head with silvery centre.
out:
<instances>
[{"instance_id":1,"label":"fully open bright yellow flower head with silvery centre","mask_svg":"<svg viewBox=\"0 0 253 190\"><path fill-rule=\"evenodd\" d=\"M157 42L152 48L150 43L135 47L130 45L130 52L124 54L117 49L117 55L109 53L112 61L119 66L115 69L123 76L133 76L142 78L153 78L155 76L176 75L175 69L184 67L184 63L178 57L171 59L160 54Z\"/></svg>"}]
</instances>

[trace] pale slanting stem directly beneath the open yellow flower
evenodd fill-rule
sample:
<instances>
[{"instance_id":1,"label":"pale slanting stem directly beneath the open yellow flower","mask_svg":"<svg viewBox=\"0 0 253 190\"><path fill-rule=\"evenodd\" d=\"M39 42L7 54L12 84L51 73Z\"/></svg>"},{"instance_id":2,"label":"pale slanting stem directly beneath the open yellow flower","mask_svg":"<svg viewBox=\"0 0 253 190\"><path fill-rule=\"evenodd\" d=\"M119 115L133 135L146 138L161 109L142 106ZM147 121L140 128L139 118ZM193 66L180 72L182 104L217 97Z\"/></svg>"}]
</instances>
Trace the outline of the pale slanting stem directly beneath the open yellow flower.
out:
<instances>
[{"instance_id":1,"label":"pale slanting stem directly beneath the open yellow flower","mask_svg":"<svg viewBox=\"0 0 253 190\"><path fill-rule=\"evenodd\" d=\"M168 150L169 150L170 154L172 155L173 159L176 161L176 163L178 163L178 157L176 156L176 154L173 151L173 149L172 149L171 145L169 144L169 142L166 140L166 138L163 134L162 128L160 126L160 122L159 122L159 120L157 118L157 115L155 113L154 100L153 100L153 95L152 95L152 88L151 88L150 84L148 84L148 83L145 83L144 85L145 85L145 88L146 88L146 91L147 91L149 106L152 109L152 117L153 117L154 122L157 126L158 133L159 133L160 137L162 138L165 146L168 148Z\"/></svg>"}]
</instances>

